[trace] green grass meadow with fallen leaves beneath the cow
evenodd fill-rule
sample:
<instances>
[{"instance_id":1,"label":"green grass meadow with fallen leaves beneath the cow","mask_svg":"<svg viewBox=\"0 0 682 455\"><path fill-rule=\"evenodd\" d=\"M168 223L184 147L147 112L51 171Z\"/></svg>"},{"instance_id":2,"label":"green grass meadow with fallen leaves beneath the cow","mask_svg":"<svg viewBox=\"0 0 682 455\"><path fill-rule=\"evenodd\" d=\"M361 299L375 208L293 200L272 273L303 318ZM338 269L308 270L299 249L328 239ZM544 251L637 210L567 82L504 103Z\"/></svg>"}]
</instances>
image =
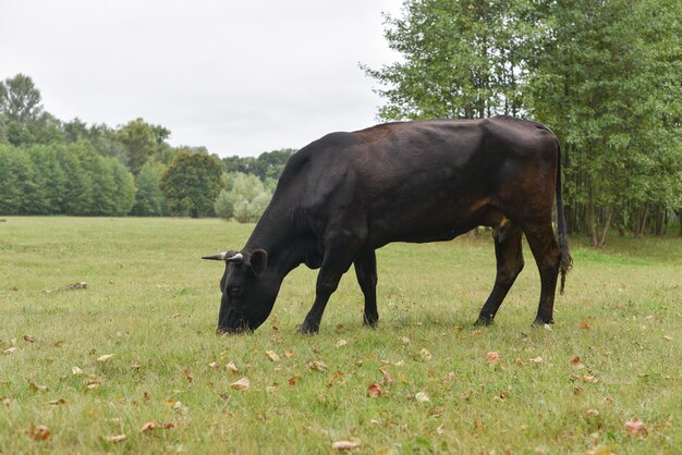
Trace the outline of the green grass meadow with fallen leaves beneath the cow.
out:
<instances>
[{"instance_id":1,"label":"green grass meadow with fallen leaves beneath the cow","mask_svg":"<svg viewBox=\"0 0 682 455\"><path fill-rule=\"evenodd\" d=\"M0 223L0 453L328 453L340 440L368 454L682 451L680 237L613 237L601 249L573 238L552 330L531 328L539 279L527 247L496 324L472 327L495 278L483 235L379 250L377 330L362 327L351 271L320 333L297 335L316 276L299 268L263 328L218 337L222 267L198 258L241 247L252 229ZM87 290L53 291L82 281ZM248 390L230 386L244 377ZM631 418L648 434L629 435ZM148 421L173 428L141 432ZM49 438L36 441L32 426Z\"/></svg>"}]
</instances>

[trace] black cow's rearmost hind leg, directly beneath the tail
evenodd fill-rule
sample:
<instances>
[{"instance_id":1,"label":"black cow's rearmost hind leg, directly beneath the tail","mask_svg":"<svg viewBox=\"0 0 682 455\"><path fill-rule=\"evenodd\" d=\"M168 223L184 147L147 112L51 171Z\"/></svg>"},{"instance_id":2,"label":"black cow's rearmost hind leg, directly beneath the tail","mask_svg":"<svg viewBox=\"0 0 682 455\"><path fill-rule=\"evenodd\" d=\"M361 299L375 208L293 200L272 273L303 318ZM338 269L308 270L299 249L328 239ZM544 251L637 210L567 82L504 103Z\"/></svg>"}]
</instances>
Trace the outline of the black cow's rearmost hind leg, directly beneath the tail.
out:
<instances>
[{"instance_id":1,"label":"black cow's rearmost hind leg, directly beneath the tail","mask_svg":"<svg viewBox=\"0 0 682 455\"><path fill-rule=\"evenodd\" d=\"M524 226L528 246L540 272L540 302L534 324L553 323L555 292L561 262L561 250L551 223Z\"/></svg>"}]
</instances>

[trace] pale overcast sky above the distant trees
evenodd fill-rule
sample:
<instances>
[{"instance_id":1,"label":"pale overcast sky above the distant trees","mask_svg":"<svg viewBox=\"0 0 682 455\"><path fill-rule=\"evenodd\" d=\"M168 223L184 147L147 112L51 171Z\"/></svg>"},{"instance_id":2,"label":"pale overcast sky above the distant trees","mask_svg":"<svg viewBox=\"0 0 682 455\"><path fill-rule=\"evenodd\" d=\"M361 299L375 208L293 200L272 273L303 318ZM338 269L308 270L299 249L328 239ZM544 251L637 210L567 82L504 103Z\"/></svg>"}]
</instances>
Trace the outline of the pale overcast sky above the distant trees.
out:
<instances>
[{"instance_id":1,"label":"pale overcast sky above the distant trees","mask_svg":"<svg viewBox=\"0 0 682 455\"><path fill-rule=\"evenodd\" d=\"M117 126L142 116L174 146L256 156L376 123L370 67L398 56L402 0L0 0L0 79L45 109Z\"/></svg>"}]
</instances>

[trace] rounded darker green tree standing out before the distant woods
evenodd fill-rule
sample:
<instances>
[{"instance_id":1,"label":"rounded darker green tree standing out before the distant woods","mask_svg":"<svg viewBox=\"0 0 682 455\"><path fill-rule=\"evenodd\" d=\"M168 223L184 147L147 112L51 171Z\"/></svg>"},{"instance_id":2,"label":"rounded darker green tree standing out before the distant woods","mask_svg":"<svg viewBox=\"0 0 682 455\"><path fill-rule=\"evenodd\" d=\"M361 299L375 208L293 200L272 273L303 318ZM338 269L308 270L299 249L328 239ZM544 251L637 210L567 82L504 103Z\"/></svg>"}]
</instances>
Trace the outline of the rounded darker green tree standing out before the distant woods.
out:
<instances>
[{"instance_id":1,"label":"rounded darker green tree standing out before the distant woods","mask_svg":"<svg viewBox=\"0 0 682 455\"><path fill-rule=\"evenodd\" d=\"M214 214L222 185L222 163L217 157L187 152L175 155L160 183L169 211L192 218Z\"/></svg>"}]
</instances>

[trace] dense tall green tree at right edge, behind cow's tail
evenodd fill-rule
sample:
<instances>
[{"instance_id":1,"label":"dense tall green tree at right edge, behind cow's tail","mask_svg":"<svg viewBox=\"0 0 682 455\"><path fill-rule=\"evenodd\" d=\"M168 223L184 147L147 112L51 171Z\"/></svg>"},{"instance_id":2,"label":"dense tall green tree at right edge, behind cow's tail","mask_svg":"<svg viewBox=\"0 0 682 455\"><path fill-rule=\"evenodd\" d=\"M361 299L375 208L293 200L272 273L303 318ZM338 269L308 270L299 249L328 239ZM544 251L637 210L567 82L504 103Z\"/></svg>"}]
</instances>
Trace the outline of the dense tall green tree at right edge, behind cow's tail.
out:
<instances>
[{"instance_id":1,"label":"dense tall green tree at right edge, behind cow's tail","mask_svg":"<svg viewBox=\"0 0 682 455\"><path fill-rule=\"evenodd\" d=\"M641 234L649 207L680 206L680 16L670 0L559 1L550 10L533 107L563 140L568 219L594 245L606 243L614 219L633 217Z\"/></svg>"}]
</instances>

